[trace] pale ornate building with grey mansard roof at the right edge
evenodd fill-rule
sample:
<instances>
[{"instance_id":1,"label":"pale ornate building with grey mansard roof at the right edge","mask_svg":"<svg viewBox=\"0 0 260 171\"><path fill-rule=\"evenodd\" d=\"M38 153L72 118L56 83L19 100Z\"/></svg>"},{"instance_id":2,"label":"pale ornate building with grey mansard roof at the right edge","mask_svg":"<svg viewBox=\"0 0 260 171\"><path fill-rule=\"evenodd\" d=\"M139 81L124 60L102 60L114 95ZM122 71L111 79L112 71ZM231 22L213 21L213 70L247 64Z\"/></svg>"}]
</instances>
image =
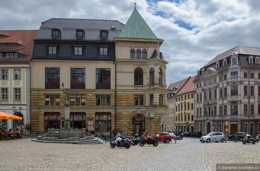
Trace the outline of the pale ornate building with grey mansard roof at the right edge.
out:
<instances>
[{"instance_id":1,"label":"pale ornate building with grey mansard roof at the right edge","mask_svg":"<svg viewBox=\"0 0 260 171\"><path fill-rule=\"evenodd\" d=\"M195 130L260 133L260 48L236 46L197 71Z\"/></svg>"}]
</instances>

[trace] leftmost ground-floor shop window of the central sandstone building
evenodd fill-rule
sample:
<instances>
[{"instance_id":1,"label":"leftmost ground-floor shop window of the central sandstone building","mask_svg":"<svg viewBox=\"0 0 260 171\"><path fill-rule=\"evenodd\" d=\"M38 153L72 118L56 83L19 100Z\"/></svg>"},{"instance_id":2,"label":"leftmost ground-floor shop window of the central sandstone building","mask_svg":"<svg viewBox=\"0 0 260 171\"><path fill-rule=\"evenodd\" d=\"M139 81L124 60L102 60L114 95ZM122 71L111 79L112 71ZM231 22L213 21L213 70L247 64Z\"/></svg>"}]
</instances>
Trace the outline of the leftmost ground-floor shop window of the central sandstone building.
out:
<instances>
[{"instance_id":1,"label":"leftmost ground-floor shop window of the central sandstone building","mask_svg":"<svg viewBox=\"0 0 260 171\"><path fill-rule=\"evenodd\" d=\"M48 131L48 128L60 129L60 113L45 112L44 125L45 132Z\"/></svg>"}]
</instances>

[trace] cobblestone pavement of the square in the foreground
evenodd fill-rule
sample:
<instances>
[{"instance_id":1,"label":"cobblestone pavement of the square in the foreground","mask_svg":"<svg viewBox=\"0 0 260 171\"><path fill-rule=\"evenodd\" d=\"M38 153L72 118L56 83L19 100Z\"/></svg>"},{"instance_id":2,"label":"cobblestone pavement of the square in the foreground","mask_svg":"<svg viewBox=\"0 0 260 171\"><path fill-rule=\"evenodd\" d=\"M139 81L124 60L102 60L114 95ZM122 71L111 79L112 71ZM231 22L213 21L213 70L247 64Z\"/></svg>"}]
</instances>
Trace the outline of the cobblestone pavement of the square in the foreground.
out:
<instances>
[{"instance_id":1,"label":"cobblestone pavement of the square in the foreground","mask_svg":"<svg viewBox=\"0 0 260 171\"><path fill-rule=\"evenodd\" d=\"M259 144L159 143L112 149L110 144L38 143L30 138L0 141L0 170L216 170L216 163L259 163ZM250 155L248 155L250 154ZM246 157L244 157L246 156Z\"/></svg>"}]
</instances>

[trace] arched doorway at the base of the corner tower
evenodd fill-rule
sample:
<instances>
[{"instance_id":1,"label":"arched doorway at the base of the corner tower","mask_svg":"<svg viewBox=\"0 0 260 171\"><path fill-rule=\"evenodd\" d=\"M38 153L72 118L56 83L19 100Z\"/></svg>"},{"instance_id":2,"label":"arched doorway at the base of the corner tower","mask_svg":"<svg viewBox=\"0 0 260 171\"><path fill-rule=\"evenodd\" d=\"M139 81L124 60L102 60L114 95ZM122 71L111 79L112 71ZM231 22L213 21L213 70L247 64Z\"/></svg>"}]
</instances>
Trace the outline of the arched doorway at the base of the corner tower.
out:
<instances>
[{"instance_id":1,"label":"arched doorway at the base of the corner tower","mask_svg":"<svg viewBox=\"0 0 260 171\"><path fill-rule=\"evenodd\" d=\"M138 136L141 136L141 134L145 131L145 118L143 115L137 114L133 117L132 121L133 126L133 134L137 134Z\"/></svg>"}]
</instances>

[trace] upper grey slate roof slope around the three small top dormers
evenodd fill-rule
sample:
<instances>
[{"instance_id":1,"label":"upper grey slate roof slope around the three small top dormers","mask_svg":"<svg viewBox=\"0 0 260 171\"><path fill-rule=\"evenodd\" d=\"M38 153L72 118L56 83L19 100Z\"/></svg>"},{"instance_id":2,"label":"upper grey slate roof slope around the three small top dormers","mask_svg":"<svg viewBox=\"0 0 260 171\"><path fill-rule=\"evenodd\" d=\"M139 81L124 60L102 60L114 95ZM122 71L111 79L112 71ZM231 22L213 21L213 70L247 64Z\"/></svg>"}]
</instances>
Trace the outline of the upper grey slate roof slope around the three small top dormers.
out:
<instances>
[{"instance_id":1,"label":"upper grey slate roof slope around the three small top dormers","mask_svg":"<svg viewBox=\"0 0 260 171\"><path fill-rule=\"evenodd\" d=\"M124 24L117 20L52 18L42 22L35 40L112 42L114 37L120 34L123 27ZM61 31L59 38L51 36L51 29ZM85 31L83 38L76 37L77 29ZM108 30L108 38L100 38L100 30Z\"/></svg>"}]
</instances>

